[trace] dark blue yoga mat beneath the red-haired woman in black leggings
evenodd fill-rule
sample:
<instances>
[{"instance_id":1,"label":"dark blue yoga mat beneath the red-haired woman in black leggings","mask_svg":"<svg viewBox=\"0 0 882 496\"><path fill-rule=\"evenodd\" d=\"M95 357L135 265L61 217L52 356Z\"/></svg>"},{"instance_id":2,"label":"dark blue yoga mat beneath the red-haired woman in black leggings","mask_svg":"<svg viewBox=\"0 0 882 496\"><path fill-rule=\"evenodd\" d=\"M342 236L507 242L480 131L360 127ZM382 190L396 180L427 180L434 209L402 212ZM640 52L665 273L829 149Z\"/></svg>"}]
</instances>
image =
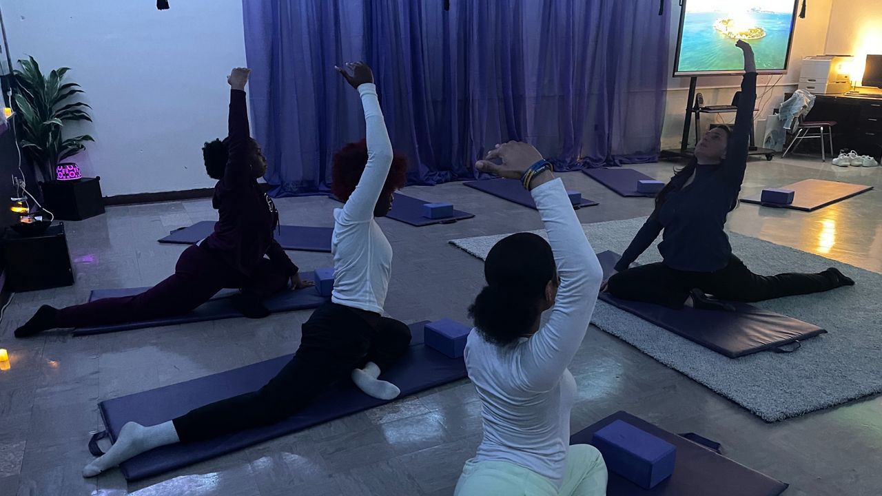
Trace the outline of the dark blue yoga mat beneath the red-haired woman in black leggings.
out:
<instances>
[{"instance_id":1,"label":"dark blue yoga mat beneath the red-haired woman in black leggings","mask_svg":"<svg viewBox=\"0 0 882 496\"><path fill-rule=\"evenodd\" d=\"M380 376L380 379L389 380L400 388L400 398L467 376L462 358L449 358L423 346L422 330L427 322L410 325L413 334L410 349L388 372ZM116 440L127 422L160 424L207 403L255 391L272 379L292 356L273 358L228 372L100 402L101 417L111 439ZM351 381L344 380L330 387L309 407L278 424L203 442L159 447L123 462L120 469L129 481L151 477L384 403L387 402L365 395ZM98 436L101 433L96 434Z\"/></svg>"}]
</instances>

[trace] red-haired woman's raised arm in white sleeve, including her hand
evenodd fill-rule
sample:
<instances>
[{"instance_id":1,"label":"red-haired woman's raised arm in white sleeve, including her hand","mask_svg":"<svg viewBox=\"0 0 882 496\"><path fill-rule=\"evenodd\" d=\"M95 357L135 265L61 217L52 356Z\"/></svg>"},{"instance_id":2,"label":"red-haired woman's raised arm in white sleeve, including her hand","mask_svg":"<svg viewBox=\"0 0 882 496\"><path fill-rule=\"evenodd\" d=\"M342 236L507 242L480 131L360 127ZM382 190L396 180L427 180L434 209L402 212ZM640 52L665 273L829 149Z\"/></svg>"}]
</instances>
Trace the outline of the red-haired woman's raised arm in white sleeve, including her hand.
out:
<instances>
[{"instance_id":1,"label":"red-haired woman's raised arm in white sleeve, including her hand","mask_svg":"<svg viewBox=\"0 0 882 496\"><path fill-rule=\"evenodd\" d=\"M343 215L351 222L365 222L373 217L377 199L383 191L386 177L389 176L389 169L392 166L392 142L389 140L389 132L386 131L383 111L377 100L377 86L374 85L370 67L361 62L348 65L353 69L351 76L340 67L335 69L350 85L358 89L358 94L362 97L368 163L364 167L362 178L355 186L355 191L343 206Z\"/></svg>"}]
</instances>

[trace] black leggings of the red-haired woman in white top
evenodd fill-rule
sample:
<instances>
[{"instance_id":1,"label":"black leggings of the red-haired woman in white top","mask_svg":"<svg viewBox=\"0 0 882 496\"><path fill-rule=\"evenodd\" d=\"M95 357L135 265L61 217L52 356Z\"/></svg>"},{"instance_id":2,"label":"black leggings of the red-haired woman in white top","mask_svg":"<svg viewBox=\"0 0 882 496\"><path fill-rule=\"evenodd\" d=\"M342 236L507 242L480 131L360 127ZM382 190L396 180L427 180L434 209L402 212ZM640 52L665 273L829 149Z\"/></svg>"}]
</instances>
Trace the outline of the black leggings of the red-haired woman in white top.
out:
<instances>
[{"instance_id":1,"label":"black leggings of the red-haired woman in white top","mask_svg":"<svg viewBox=\"0 0 882 496\"><path fill-rule=\"evenodd\" d=\"M370 325L351 308L326 303L303 324L291 361L253 393L191 410L174 420L181 442L209 440L260 425L272 425L303 409L355 368L374 362L385 371L407 351L410 329L395 319Z\"/></svg>"}]
</instances>

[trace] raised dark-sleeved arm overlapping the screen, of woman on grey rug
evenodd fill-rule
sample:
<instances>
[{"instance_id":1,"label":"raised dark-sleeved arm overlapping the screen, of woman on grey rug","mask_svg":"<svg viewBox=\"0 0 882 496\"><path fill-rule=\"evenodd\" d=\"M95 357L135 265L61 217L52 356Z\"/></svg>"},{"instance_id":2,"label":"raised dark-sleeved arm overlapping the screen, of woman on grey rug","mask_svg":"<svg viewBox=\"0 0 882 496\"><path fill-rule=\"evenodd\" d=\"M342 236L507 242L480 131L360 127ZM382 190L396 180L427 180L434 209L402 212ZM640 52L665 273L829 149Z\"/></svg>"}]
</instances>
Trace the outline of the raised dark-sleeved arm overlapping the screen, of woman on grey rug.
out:
<instances>
[{"instance_id":1,"label":"raised dark-sleeved arm overlapping the screen, of woman on grey rug","mask_svg":"<svg viewBox=\"0 0 882 496\"><path fill-rule=\"evenodd\" d=\"M753 106L757 102L757 64L751 45L739 40L736 46L744 50L744 79L741 81L741 96L738 97L735 127L729 139L724 163L730 180L740 187L744 180L744 169L747 168L747 154L751 144L753 124Z\"/></svg>"}]
</instances>

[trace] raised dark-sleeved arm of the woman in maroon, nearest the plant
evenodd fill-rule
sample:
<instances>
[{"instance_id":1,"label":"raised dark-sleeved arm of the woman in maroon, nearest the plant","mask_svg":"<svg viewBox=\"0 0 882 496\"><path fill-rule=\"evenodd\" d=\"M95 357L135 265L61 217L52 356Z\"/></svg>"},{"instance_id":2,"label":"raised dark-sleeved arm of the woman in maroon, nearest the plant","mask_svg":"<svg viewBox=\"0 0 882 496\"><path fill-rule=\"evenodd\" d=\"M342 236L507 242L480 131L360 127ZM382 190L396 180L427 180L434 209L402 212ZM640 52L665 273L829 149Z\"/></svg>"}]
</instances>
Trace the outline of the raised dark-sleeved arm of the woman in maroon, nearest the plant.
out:
<instances>
[{"instance_id":1,"label":"raised dark-sleeved arm of the woman in maroon, nearest the plant","mask_svg":"<svg viewBox=\"0 0 882 496\"><path fill-rule=\"evenodd\" d=\"M228 158L221 185L234 189L249 184L251 180L250 129L248 126L248 106L245 103L245 84L248 83L250 69L236 67L227 77L229 83L228 116Z\"/></svg>"}]
</instances>

